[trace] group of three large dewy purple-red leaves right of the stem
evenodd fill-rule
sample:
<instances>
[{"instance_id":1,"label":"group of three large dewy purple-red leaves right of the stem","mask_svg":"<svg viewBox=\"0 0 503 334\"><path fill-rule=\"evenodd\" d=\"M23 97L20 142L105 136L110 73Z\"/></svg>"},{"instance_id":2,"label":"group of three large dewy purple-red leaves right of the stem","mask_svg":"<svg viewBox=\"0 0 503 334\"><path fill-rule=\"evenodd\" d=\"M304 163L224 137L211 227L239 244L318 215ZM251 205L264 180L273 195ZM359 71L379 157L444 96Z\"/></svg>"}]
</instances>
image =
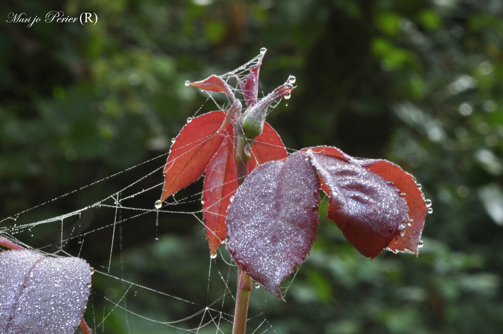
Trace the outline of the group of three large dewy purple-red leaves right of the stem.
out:
<instances>
[{"instance_id":1,"label":"group of three large dewy purple-red leaves right of the stem","mask_svg":"<svg viewBox=\"0 0 503 334\"><path fill-rule=\"evenodd\" d=\"M412 175L333 147L303 149L255 169L227 215L227 249L236 264L278 298L281 281L315 241L320 187L329 196L328 219L363 255L418 252L427 207Z\"/></svg>"}]
</instances>

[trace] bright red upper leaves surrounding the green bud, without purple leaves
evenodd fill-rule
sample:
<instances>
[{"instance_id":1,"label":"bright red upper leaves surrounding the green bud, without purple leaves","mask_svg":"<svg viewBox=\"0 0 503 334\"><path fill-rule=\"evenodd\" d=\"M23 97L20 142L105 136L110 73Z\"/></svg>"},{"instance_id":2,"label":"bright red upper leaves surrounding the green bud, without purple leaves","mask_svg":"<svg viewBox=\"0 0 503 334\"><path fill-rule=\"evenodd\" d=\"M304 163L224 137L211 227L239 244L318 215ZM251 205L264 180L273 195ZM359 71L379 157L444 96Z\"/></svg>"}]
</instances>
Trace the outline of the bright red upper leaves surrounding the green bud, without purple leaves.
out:
<instances>
[{"instance_id":1,"label":"bright red upper leaves surrounding the green bud, without purple leaves","mask_svg":"<svg viewBox=\"0 0 503 334\"><path fill-rule=\"evenodd\" d=\"M260 57L244 82L238 81L246 107L257 104L258 73ZM227 235L225 218L230 199L237 189L235 164L236 121L242 112L241 101L235 98L232 89L219 76L188 83L201 90L223 92L231 99L227 110L208 112L193 118L175 138L164 166L164 186L161 201L178 190L196 181L205 173L203 185L203 210L207 238L211 254ZM293 87L282 85L277 99L288 95ZM267 107L267 106L266 106ZM261 134L251 147L252 158L247 162L247 171L270 160L284 159L288 154L278 133L264 124Z\"/></svg>"}]
</instances>

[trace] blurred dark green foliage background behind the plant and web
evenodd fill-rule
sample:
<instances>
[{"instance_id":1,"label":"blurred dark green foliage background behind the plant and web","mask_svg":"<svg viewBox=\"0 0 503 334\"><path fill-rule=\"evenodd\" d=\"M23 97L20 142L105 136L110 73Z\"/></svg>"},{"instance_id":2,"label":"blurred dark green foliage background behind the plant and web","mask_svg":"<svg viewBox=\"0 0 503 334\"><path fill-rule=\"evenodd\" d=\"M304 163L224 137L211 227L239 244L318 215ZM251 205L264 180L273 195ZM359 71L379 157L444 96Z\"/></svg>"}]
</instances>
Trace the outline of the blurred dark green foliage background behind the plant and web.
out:
<instances>
[{"instance_id":1,"label":"blurred dark green foliage background behind the plant and web","mask_svg":"<svg viewBox=\"0 0 503 334\"><path fill-rule=\"evenodd\" d=\"M3 2L0 9L0 220L166 153L205 101L183 82L226 73L266 46L262 91L297 77L288 106L281 103L268 118L286 147L334 145L352 156L392 160L422 183L434 212L426 218L418 257L384 252L372 261L322 219L287 302L253 291L249 332L503 328L501 1L68 0ZM42 21L31 28L6 22L10 12L43 16L51 10L95 12L99 20L94 26ZM202 111L211 107L205 103ZM98 201L146 170L140 166L44 204L27 221ZM158 171L150 186L161 181ZM200 183L188 189L200 191ZM132 205L153 207L159 195L160 188ZM96 229L99 217L92 212L78 226ZM201 300L203 307L223 294L221 288L207 291L207 245L194 217L161 214L157 228L155 215L146 221L148 227L135 222L121 230L113 264L124 277ZM39 247L43 238L22 240ZM81 256L97 269L108 264L110 235L86 242ZM74 248L65 246L76 254ZM228 268L217 260L211 281L222 283ZM232 270L230 276L234 293ZM128 287L127 308L143 316L172 321L200 309L146 290L133 294L134 286L104 275L94 279L86 313L91 326L114 308L106 298L117 301ZM229 319L230 296L220 309ZM197 316L176 325L197 328L200 322ZM120 307L93 328L183 332L131 314L126 320ZM230 324L222 320L221 330L229 332ZM206 332L217 329L199 331Z\"/></svg>"}]
</instances>

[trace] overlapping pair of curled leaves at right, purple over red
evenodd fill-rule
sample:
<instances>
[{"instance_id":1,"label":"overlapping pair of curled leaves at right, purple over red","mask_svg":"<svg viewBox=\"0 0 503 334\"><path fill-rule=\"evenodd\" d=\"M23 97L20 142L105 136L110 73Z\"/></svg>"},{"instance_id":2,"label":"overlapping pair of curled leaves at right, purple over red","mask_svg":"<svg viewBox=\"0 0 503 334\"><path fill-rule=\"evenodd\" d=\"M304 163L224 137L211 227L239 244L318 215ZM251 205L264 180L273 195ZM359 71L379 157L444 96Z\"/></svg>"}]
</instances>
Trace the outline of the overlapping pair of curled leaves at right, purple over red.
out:
<instances>
[{"instance_id":1,"label":"overlapping pair of curled leaves at right, purple over red","mask_svg":"<svg viewBox=\"0 0 503 334\"><path fill-rule=\"evenodd\" d=\"M390 161L357 159L334 147L303 151L313 157L330 197L328 218L358 251L370 257L384 248L418 253L427 207L411 174Z\"/></svg>"}]
</instances>

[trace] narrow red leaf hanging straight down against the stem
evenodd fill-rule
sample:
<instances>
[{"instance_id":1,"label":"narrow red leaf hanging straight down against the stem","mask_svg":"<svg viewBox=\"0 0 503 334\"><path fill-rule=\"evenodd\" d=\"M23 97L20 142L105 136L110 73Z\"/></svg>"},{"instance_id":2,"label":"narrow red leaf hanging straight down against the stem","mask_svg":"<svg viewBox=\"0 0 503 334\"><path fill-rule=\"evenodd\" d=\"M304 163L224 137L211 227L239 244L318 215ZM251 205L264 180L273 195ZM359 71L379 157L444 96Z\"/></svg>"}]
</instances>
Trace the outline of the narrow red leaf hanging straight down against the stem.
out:
<instances>
[{"instance_id":1,"label":"narrow red leaf hanging straight down against the stem","mask_svg":"<svg viewBox=\"0 0 503 334\"><path fill-rule=\"evenodd\" d=\"M232 130L230 132L232 133ZM208 163L204 178L204 221L211 254L215 254L227 235L225 227L227 207L237 189L234 148L230 138L224 138L217 153Z\"/></svg>"}]
</instances>

